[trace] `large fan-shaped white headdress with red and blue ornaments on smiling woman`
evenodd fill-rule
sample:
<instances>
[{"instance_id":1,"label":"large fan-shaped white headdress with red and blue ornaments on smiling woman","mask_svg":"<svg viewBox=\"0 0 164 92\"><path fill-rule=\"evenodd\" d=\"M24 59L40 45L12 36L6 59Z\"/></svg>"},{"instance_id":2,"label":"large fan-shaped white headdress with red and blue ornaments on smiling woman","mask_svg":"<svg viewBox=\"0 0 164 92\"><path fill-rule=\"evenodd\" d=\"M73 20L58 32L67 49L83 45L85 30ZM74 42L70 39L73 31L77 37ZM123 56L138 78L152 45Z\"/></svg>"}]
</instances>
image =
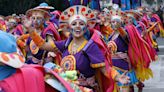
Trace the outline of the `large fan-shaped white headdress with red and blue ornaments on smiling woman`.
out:
<instances>
[{"instance_id":1,"label":"large fan-shaped white headdress with red and blue ornaments on smiling woman","mask_svg":"<svg viewBox=\"0 0 164 92\"><path fill-rule=\"evenodd\" d=\"M76 19L83 20L90 28L93 28L96 24L96 15L90 8L76 5L62 12L59 19L59 27L61 29L68 29L69 24Z\"/></svg>"}]
</instances>

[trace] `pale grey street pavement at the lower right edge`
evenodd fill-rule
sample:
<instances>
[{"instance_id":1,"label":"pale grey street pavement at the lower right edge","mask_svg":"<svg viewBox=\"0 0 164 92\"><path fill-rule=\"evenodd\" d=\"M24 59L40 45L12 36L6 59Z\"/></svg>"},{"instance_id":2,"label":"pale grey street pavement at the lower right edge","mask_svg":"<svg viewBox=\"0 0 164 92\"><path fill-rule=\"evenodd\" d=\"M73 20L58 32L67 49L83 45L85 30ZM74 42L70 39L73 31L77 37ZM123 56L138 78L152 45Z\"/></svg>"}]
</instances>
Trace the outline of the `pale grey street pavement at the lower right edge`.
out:
<instances>
[{"instance_id":1,"label":"pale grey street pavement at the lower right edge","mask_svg":"<svg viewBox=\"0 0 164 92\"><path fill-rule=\"evenodd\" d=\"M154 77L145 81L143 92L164 92L164 38L158 38L159 58L156 62L152 62L150 68L154 73ZM137 88L135 88L137 92Z\"/></svg>"}]
</instances>

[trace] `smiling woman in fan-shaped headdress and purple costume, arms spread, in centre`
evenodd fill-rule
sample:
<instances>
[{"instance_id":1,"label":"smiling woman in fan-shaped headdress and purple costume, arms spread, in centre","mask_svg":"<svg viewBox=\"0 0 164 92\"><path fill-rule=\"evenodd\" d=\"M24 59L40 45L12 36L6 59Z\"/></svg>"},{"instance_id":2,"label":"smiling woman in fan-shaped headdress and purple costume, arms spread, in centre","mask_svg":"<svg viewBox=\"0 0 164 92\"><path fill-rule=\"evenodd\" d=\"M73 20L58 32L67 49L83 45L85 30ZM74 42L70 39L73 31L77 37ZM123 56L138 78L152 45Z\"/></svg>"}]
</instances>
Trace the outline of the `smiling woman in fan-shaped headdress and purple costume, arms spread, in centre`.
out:
<instances>
[{"instance_id":1,"label":"smiling woman in fan-shaped headdress and purple costume, arms spread, in centre","mask_svg":"<svg viewBox=\"0 0 164 92\"><path fill-rule=\"evenodd\" d=\"M32 28L29 30L30 36L35 44L41 49L62 52L62 61L60 66L64 70L78 71L79 85L93 89L94 91L112 92L108 85L98 85L96 83L96 70L100 70L106 77L113 78L123 84L128 83L128 77L125 73L121 76L112 68L111 72L107 72L105 68L105 56L98 45L91 38L99 39L95 34L90 38L89 29L93 28L96 20L93 11L85 6L76 5L66 9L60 16L60 28L66 28L71 32L69 39L64 41L45 42ZM30 26L29 26L30 28ZM37 40L35 40L37 39ZM99 39L100 40L100 39ZM109 62L109 61L108 61ZM110 67L107 67L108 69ZM100 73L101 73L100 72ZM112 77L109 77L111 74ZM98 78L101 80L101 78ZM97 80L98 81L98 80ZM107 81L107 80L106 80ZM99 81L100 82L100 81ZM106 87L104 90L99 88Z\"/></svg>"}]
</instances>

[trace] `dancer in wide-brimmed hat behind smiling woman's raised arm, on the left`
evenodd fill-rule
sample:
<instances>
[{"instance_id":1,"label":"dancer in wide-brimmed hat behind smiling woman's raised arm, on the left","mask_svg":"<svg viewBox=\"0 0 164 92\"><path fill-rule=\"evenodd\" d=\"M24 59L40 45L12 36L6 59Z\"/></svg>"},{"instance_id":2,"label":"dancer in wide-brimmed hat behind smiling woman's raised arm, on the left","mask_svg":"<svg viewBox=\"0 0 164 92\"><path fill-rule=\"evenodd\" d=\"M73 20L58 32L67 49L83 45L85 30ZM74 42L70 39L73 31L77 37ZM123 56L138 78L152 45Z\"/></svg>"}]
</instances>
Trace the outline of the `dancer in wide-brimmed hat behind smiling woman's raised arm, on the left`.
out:
<instances>
[{"instance_id":1,"label":"dancer in wide-brimmed hat behind smiling woman's raised arm, on the left","mask_svg":"<svg viewBox=\"0 0 164 92\"><path fill-rule=\"evenodd\" d=\"M37 30L38 34L42 36L43 39L49 40L49 39L54 39L54 40L60 40L59 33L57 30L54 28L54 26L49 26L45 27L44 23L46 20L49 19L49 13L47 11L44 11L42 9L37 9L33 8L30 9L26 12L26 16L28 19L32 20L32 26ZM25 24L24 26L26 27L28 25ZM26 29L28 29L26 27ZM24 42L24 39L27 39L27 41ZM44 58L47 56L46 51L40 50L33 40L31 40L28 35L24 35L20 37L17 41L18 45L22 45L21 47L27 47L27 58L28 60L26 61L27 63L43 63ZM26 44L25 44L26 43Z\"/></svg>"}]
</instances>

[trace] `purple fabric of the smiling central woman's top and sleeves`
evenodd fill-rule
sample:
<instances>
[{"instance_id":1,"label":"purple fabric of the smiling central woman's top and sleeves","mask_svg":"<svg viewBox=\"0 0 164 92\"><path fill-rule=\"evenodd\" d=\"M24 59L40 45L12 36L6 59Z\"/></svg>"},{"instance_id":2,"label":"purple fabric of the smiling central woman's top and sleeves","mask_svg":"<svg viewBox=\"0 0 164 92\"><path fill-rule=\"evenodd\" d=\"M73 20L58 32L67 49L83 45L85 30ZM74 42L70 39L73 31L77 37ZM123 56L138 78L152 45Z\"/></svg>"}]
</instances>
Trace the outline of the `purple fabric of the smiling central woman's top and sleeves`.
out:
<instances>
[{"instance_id":1,"label":"purple fabric of the smiling central woman's top and sleeves","mask_svg":"<svg viewBox=\"0 0 164 92\"><path fill-rule=\"evenodd\" d=\"M68 52L68 47L65 47L65 44L66 40L55 42L57 48L62 52L62 58L70 55ZM73 56L76 59L76 70L88 78L95 75L95 69L91 67L91 64L104 63L105 57L103 56L97 44L94 42L90 44L85 53L88 55L88 57L84 55L82 50Z\"/></svg>"}]
</instances>

